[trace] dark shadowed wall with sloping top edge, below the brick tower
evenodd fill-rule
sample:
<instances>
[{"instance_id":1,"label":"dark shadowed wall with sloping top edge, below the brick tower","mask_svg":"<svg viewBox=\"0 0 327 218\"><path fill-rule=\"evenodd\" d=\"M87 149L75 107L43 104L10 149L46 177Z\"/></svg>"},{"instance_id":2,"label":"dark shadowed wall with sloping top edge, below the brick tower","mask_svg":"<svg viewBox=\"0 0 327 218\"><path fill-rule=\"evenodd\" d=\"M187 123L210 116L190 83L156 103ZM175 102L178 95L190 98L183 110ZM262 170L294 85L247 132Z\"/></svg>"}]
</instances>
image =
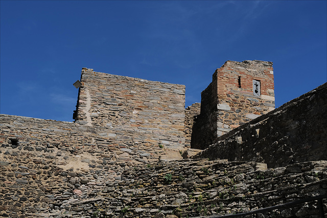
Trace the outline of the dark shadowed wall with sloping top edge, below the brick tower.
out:
<instances>
[{"instance_id":1,"label":"dark shadowed wall with sloping top edge, below the brick tower","mask_svg":"<svg viewBox=\"0 0 327 218\"><path fill-rule=\"evenodd\" d=\"M327 84L220 137L194 158L251 160L269 168L327 160Z\"/></svg>"}]
</instances>

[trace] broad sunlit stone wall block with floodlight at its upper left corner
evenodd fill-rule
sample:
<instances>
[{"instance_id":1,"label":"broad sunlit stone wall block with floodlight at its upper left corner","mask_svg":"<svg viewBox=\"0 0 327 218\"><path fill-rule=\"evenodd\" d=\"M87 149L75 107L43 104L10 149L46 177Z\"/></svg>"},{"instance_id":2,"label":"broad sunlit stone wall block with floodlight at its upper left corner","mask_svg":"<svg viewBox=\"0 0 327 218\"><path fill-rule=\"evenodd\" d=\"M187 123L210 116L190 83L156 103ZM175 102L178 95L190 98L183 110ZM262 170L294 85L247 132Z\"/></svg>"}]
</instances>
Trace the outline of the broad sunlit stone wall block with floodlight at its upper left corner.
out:
<instances>
[{"instance_id":1,"label":"broad sunlit stone wall block with floodlight at its upper left corner","mask_svg":"<svg viewBox=\"0 0 327 218\"><path fill-rule=\"evenodd\" d=\"M184 147L185 86L82 69L76 123L119 146Z\"/></svg>"}]
</instances>

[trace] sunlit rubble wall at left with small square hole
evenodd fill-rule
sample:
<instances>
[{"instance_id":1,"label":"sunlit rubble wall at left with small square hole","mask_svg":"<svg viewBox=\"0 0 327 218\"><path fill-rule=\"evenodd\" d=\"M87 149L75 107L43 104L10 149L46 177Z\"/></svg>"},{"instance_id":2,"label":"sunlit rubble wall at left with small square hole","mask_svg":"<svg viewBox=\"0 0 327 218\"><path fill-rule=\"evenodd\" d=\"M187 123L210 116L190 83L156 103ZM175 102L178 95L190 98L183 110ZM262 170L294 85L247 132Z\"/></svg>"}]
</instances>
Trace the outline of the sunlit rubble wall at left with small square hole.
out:
<instances>
[{"instance_id":1,"label":"sunlit rubble wall at left with small square hole","mask_svg":"<svg viewBox=\"0 0 327 218\"><path fill-rule=\"evenodd\" d=\"M106 182L121 180L125 168L171 153L115 145L101 129L71 122L1 115L0 127L1 217L64 209L77 196L92 198Z\"/></svg>"}]
</instances>

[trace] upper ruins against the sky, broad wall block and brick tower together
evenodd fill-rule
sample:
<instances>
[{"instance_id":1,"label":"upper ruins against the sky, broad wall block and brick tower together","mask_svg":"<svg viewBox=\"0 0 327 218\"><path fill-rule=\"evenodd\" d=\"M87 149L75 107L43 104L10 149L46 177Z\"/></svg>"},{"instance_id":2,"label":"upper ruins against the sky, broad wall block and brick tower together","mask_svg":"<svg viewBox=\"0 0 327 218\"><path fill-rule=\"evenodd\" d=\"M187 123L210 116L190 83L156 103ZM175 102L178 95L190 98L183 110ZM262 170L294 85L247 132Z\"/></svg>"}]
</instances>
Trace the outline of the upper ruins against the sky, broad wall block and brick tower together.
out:
<instances>
[{"instance_id":1,"label":"upper ruins against the sky, broad wall block and brick tower together","mask_svg":"<svg viewBox=\"0 0 327 218\"><path fill-rule=\"evenodd\" d=\"M201 104L186 110L183 85L87 68L81 83L75 122L97 127L120 146L204 149L223 133L274 109L272 63L264 61L227 61L201 93Z\"/></svg>"}]
</instances>

